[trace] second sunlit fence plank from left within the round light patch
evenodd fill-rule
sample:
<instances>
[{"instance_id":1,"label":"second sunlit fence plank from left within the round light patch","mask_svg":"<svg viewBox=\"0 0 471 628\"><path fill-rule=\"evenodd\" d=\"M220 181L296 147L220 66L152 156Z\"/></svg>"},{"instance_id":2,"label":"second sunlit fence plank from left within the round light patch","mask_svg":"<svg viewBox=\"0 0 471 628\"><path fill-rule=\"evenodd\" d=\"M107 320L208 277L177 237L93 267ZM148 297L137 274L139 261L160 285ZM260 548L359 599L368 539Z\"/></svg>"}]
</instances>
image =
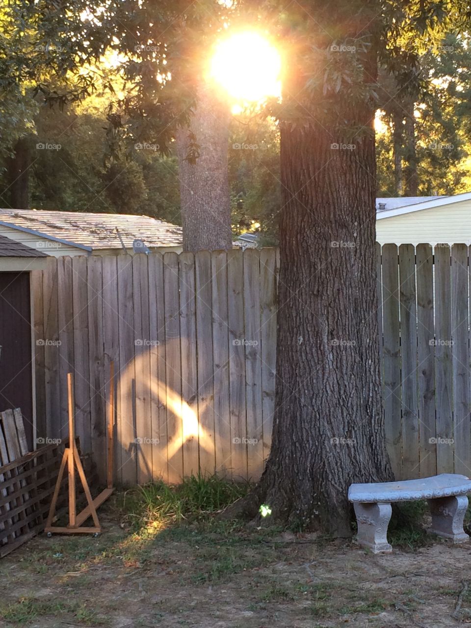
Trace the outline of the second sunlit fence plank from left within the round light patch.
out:
<instances>
[{"instance_id":1,"label":"second sunlit fence plank from left within the round light patch","mask_svg":"<svg viewBox=\"0 0 471 628\"><path fill-rule=\"evenodd\" d=\"M136 370L136 447L138 484L152 480L152 423L151 423L151 361L150 346L157 338L149 334L149 277L147 255L133 256L134 296L134 362Z\"/></svg>"}]
</instances>

